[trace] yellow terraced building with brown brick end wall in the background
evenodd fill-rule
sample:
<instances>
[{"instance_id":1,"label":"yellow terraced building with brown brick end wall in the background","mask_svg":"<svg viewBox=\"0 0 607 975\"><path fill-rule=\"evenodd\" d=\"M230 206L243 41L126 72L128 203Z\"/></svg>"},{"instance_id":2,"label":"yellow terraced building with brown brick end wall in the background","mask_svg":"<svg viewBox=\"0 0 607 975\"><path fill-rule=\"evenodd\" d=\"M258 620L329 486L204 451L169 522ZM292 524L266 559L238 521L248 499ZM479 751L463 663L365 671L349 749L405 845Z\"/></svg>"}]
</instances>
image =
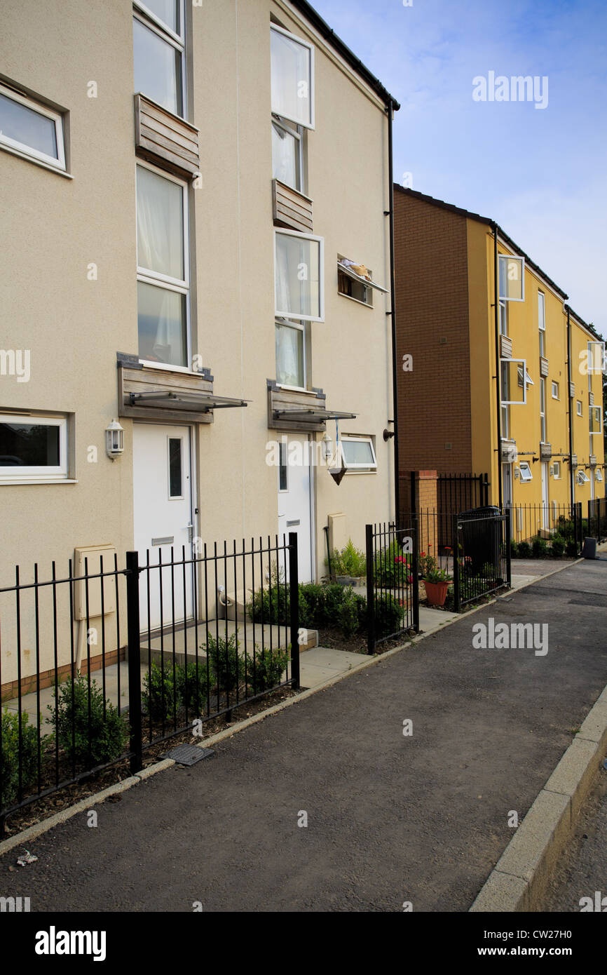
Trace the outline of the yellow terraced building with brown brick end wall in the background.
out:
<instances>
[{"instance_id":1,"label":"yellow terraced building with brown brick end wall in the background","mask_svg":"<svg viewBox=\"0 0 607 975\"><path fill-rule=\"evenodd\" d=\"M400 469L486 472L515 538L572 502L586 517L605 496L603 341L494 221L395 189Z\"/></svg>"}]
</instances>

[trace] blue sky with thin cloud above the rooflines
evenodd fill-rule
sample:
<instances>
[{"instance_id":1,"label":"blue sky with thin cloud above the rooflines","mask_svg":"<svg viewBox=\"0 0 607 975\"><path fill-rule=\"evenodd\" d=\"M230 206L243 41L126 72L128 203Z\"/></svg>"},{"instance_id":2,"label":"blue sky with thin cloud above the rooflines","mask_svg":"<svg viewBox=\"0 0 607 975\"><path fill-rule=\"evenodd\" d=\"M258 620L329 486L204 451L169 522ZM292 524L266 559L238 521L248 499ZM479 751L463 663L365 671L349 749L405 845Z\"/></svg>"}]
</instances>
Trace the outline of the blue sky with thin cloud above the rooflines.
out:
<instances>
[{"instance_id":1,"label":"blue sky with thin cloud above the rooflines","mask_svg":"<svg viewBox=\"0 0 607 975\"><path fill-rule=\"evenodd\" d=\"M605 0L313 0L400 102L395 178L496 219L607 335ZM549 79L548 105L473 78Z\"/></svg>"}]
</instances>

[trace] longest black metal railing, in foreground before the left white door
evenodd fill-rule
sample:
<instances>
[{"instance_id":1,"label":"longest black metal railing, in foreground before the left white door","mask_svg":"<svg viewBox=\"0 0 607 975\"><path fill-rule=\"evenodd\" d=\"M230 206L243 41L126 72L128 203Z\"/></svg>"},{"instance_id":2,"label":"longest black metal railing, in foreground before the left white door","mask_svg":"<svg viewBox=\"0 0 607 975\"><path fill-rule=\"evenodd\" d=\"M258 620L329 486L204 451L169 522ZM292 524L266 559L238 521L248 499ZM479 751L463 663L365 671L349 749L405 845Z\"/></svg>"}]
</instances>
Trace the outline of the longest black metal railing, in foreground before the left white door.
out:
<instances>
[{"instance_id":1,"label":"longest black metal railing, in foreground before the left white door","mask_svg":"<svg viewBox=\"0 0 607 975\"><path fill-rule=\"evenodd\" d=\"M45 579L17 567L0 588L0 833L31 802L299 688L297 535L198 549Z\"/></svg>"}]
</instances>

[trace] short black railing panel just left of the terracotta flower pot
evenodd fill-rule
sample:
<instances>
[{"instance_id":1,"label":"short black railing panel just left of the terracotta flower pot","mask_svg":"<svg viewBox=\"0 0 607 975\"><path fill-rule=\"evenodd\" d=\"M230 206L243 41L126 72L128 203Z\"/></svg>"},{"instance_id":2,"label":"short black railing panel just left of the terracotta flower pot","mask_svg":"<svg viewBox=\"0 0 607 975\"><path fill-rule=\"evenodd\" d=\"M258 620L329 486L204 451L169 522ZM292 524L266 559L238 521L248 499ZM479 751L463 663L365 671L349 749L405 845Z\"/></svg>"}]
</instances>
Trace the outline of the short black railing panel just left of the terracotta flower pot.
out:
<instances>
[{"instance_id":1,"label":"short black railing panel just left of the terracotta flower pot","mask_svg":"<svg viewBox=\"0 0 607 975\"><path fill-rule=\"evenodd\" d=\"M414 519L365 527L368 653L419 632L417 533Z\"/></svg>"}]
</instances>

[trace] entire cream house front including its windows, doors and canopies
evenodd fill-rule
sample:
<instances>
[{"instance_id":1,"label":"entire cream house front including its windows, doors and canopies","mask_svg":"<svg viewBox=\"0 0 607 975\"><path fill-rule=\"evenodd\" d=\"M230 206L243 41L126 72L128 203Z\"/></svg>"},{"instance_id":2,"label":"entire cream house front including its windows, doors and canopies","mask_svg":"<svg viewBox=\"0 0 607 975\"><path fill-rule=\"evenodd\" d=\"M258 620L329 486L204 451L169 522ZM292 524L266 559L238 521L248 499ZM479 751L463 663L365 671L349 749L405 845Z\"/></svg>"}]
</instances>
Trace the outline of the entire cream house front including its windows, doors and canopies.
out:
<instances>
[{"instance_id":1,"label":"entire cream house front including its windows, doors and canopies","mask_svg":"<svg viewBox=\"0 0 607 975\"><path fill-rule=\"evenodd\" d=\"M394 517L388 93L301 3L2 20L0 585L294 529L320 579Z\"/></svg>"}]
</instances>

